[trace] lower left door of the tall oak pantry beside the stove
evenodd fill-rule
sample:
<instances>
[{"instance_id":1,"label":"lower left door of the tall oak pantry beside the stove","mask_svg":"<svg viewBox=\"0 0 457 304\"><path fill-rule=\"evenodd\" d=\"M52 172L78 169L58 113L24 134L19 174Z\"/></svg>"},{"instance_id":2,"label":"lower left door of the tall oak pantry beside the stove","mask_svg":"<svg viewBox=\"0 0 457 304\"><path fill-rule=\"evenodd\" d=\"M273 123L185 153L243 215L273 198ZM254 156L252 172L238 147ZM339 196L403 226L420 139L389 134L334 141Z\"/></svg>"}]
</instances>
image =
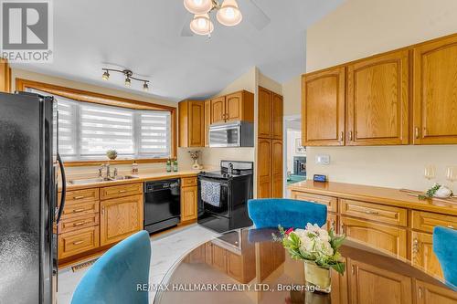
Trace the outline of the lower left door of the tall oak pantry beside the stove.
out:
<instances>
[{"instance_id":1,"label":"lower left door of the tall oak pantry beside the stove","mask_svg":"<svg viewBox=\"0 0 457 304\"><path fill-rule=\"evenodd\" d=\"M271 197L271 140L259 139L257 163L257 197L269 198Z\"/></svg>"}]
</instances>

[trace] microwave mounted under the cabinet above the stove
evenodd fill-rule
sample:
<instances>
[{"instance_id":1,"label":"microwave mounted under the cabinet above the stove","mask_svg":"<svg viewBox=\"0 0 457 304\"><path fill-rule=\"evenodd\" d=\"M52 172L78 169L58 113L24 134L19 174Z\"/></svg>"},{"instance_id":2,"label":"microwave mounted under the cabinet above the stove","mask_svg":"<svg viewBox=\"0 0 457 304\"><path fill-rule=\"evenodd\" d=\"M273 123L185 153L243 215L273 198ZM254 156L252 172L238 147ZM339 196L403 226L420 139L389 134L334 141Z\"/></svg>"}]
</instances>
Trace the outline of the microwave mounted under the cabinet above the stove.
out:
<instances>
[{"instance_id":1,"label":"microwave mounted under the cabinet above the stove","mask_svg":"<svg viewBox=\"0 0 457 304\"><path fill-rule=\"evenodd\" d=\"M209 126L209 147L253 147L254 124L232 121Z\"/></svg>"}]
</instances>

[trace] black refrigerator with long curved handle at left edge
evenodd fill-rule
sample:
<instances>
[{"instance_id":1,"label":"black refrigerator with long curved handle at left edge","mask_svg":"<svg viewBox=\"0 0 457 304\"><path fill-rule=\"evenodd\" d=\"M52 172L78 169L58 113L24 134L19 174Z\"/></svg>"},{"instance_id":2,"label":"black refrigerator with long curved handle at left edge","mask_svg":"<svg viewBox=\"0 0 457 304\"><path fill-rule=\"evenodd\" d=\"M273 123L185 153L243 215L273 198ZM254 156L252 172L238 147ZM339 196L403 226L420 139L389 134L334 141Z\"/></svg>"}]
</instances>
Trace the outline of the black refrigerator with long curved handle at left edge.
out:
<instances>
[{"instance_id":1,"label":"black refrigerator with long curved handle at left edge","mask_svg":"<svg viewBox=\"0 0 457 304\"><path fill-rule=\"evenodd\" d=\"M52 97L0 93L0 303L57 292L58 111ZM65 189L62 189L65 199Z\"/></svg>"}]
</instances>

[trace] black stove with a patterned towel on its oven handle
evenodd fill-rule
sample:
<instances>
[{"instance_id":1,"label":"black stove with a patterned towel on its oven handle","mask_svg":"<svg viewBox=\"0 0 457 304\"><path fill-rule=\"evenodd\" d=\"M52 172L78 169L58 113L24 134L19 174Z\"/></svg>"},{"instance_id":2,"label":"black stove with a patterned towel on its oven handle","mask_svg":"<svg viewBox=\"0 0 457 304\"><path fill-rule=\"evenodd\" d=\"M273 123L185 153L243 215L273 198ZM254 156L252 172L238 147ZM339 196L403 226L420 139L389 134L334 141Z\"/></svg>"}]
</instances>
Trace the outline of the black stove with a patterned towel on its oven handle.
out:
<instances>
[{"instance_id":1,"label":"black stove with a patterned towel on its oven handle","mask_svg":"<svg viewBox=\"0 0 457 304\"><path fill-rule=\"evenodd\" d=\"M253 165L221 161L219 171L198 173L198 224L218 232L252 225L247 203L253 193ZM216 194L205 195L208 183L218 189Z\"/></svg>"}]
</instances>

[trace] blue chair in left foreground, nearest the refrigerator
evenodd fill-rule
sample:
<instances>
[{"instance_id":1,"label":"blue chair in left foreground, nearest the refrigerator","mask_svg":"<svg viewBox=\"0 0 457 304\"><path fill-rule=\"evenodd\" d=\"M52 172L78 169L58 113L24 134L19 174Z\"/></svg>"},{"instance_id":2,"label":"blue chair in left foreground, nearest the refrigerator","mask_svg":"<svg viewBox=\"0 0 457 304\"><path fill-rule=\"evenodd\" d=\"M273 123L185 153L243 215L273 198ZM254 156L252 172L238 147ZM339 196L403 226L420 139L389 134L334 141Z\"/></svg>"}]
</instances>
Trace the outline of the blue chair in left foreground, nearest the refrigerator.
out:
<instances>
[{"instance_id":1,"label":"blue chair in left foreground, nearest the refrigerator","mask_svg":"<svg viewBox=\"0 0 457 304\"><path fill-rule=\"evenodd\" d=\"M140 231L112 246L90 267L76 288L71 304L148 303L148 292L137 291L149 282L151 243Z\"/></svg>"}]
</instances>

